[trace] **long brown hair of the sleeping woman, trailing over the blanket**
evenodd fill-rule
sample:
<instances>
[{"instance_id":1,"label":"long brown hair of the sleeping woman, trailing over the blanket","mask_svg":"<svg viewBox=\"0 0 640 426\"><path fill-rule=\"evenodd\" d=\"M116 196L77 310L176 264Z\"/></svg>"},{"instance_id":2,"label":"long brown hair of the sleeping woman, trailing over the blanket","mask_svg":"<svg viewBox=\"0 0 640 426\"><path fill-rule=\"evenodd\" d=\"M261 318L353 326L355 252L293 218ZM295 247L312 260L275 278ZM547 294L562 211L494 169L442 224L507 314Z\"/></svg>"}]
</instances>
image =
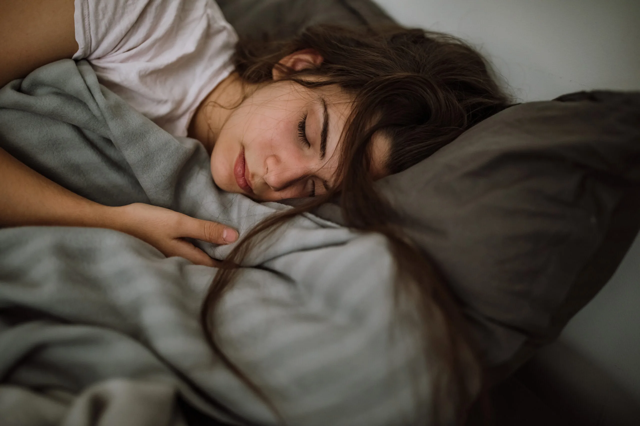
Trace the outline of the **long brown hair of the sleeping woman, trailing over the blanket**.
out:
<instances>
[{"instance_id":1,"label":"long brown hair of the sleeping woman, trailing over the blanket","mask_svg":"<svg viewBox=\"0 0 640 426\"><path fill-rule=\"evenodd\" d=\"M319 52L324 58L321 65L294 71L278 64L303 49ZM355 102L340 145L339 186L260 222L236 245L216 274L201 313L212 349L277 415L268 395L217 344L216 307L232 284L237 265L253 247L290 218L339 197L346 225L387 237L397 266L396 294L411 295L425 324L424 357L433 372L433 399L429 401L433 423L464 422L481 387L481 362L444 278L404 235L394 211L376 192L369 173L370 142L376 132L387 136L391 149L386 168L391 173L403 171L506 108L508 96L493 80L483 57L467 43L447 34L399 26L314 26L292 40L241 40L234 61L246 82L269 82L276 66L285 72L286 79L306 87L337 85Z\"/></svg>"}]
</instances>

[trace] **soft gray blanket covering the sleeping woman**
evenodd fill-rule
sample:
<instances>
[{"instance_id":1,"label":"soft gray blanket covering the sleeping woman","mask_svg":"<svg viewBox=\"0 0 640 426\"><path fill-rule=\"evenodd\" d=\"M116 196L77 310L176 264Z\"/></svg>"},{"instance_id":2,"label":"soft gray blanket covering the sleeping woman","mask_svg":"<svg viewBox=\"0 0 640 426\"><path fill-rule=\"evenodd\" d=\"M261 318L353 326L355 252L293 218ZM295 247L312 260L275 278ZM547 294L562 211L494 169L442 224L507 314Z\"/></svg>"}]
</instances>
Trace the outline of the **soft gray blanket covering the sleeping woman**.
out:
<instances>
[{"instance_id":1,"label":"soft gray blanket covering the sleeping woman","mask_svg":"<svg viewBox=\"0 0 640 426\"><path fill-rule=\"evenodd\" d=\"M0 144L94 201L147 202L241 235L287 208L218 190L198 142L161 130L82 61L0 90ZM230 250L201 247L218 258ZM305 215L244 266L218 311L221 346L287 424L428 416L428 390L415 385L429 373L415 330L394 313L385 240ZM275 424L205 343L198 312L215 273L106 229L0 230L1 423L180 425L179 395L226 422Z\"/></svg>"}]
</instances>

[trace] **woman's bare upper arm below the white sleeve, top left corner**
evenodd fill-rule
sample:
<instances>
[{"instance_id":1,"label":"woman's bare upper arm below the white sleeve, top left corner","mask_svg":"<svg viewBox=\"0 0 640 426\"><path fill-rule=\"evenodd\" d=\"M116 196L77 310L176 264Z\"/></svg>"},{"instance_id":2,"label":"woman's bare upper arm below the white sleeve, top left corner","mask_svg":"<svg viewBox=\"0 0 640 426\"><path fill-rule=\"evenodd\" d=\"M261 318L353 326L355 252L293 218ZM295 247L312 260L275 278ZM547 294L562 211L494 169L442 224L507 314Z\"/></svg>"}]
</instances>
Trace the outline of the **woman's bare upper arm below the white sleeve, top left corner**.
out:
<instances>
[{"instance_id":1,"label":"woman's bare upper arm below the white sleeve, top left corner","mask_svg":"<svg viewBox=\"0 0 640 426\"><path fill-rule=\"evenodd\" d=\"M0 87L77 52L74 0L0 0Z\"/></svg>"}]
</instances>

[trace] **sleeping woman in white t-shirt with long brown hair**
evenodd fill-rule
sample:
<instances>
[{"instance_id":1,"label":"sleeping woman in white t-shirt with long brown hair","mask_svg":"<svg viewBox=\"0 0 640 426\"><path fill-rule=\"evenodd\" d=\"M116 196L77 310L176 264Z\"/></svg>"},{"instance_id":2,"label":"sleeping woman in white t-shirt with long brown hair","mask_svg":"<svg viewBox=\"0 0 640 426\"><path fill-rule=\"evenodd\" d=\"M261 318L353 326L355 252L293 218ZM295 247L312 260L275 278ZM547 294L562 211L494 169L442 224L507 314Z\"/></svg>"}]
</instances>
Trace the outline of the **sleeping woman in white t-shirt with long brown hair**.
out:
<instances>
[{"instance_id":1,"label":"sleeping woman in white t-shirt with long brown hair","mask_svg":"<svg viewBox=\"0 0 640 426\"><path fill-rule=\"evenodd\" d=\"M425 318L446 324L442 335L425 337L436 340L450 367L442 377L452 384L435 398L455 399L456 416L469 406L477 386L468 386L467 372L480 373L461 314L428 259L394 226L373 183L508 105L472 47L399 26L316 26L291 40L237 40L211 0L3 2L0 23L0 86L58 59L86 59L101 84L158 126L200 141L222 190L255 201L307 199L243 236L229 265L261 232L335 197L350 227L387 236ZM207 266L217 263L185 238L239 238L224 225L157 206L102 206L2 149L0 180L1 226L115 229L167 257ZM233 275L230 268L216 275L205 317Z\"/></svg>"}]
</instances>

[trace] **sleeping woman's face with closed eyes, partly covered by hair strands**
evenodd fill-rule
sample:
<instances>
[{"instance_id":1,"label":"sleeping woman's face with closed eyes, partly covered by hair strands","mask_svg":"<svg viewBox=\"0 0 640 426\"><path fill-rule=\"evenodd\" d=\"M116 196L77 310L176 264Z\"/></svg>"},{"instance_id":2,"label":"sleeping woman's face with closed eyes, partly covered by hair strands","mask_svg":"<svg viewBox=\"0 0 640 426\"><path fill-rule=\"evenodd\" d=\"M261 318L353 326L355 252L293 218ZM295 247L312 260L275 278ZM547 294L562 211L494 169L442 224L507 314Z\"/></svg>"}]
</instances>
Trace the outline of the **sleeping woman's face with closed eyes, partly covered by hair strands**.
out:
<instances>
[{"instance_id":1,"label":"sleeping woman's face with closed eyes, partly covered by hair strands","mask_svg":"<svg viewBox=\"0 0 640 426\"><path fill-rule=\"evenodd\" d=\"M340 138L352 108L339 87L276 81L246 98L222 126L211 155L221 189L260 201L310 197L336 185ZM374 137L372 173L384 176L386 141Z\"/></svg>"}]
</instances>

